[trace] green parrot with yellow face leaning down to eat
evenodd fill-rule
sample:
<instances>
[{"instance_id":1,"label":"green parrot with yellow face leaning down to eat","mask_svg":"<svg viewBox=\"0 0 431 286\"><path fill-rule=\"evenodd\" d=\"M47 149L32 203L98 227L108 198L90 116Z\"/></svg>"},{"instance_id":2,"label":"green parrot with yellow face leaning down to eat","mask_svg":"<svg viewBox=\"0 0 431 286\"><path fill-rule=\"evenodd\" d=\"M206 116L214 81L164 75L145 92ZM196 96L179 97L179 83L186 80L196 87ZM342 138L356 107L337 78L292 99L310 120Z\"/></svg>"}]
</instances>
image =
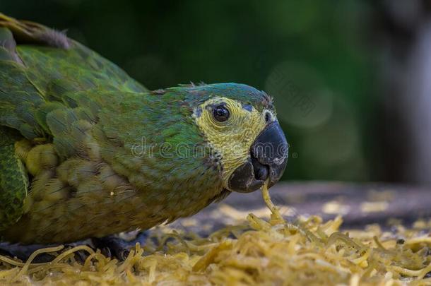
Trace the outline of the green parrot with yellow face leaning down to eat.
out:
<instances>
[{"instance_id":1,"label":"green parrot with yellow face leaning down to eat","mask_svg":"<svg viewBox=\"0 0 431 286\"><path fill-rule=\"evenodd\" d=\"M62 32L0 14L0 240L148 230L275 184L288 143L266 93L149 91Z\"/></svg>"}]
</instances>

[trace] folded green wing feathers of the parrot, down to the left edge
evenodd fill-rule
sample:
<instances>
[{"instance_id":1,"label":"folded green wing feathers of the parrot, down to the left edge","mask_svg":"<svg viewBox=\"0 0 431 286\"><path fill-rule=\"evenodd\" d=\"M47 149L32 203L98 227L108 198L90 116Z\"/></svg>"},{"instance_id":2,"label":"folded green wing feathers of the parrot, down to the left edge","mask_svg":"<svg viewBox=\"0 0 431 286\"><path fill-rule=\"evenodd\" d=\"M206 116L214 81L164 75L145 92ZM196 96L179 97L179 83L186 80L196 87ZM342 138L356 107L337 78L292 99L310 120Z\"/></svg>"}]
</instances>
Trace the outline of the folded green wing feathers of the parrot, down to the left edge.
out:
<instances>
[{"instance_id":1,"label":"folded green wing feathers of the parrot, down to the left edge","mask_svg":"<svg viewBox=\"0 0 431 286\"><path fill-rule=\"evenodd\" d=\"M0 13L0 231L20 218L28 193L18 141L52 142L64 160L115 94L146 92L64 33Z\"/></svg>"}]
</instances>

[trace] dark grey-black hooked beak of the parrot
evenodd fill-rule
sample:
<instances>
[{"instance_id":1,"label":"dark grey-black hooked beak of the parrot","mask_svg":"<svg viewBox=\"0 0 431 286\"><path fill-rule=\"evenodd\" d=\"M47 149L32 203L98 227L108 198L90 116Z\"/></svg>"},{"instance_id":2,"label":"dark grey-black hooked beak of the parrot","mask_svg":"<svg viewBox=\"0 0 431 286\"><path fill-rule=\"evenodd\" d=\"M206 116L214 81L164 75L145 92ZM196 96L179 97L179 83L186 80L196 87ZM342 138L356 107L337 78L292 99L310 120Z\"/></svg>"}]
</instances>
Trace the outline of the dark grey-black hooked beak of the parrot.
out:
<instances>
[{"instance_id":1,"label":"dark grey-black hooked beak of the parrot","mask_svg":"<svg viewBox=\"0 0 431 286\"><path fill-rule=\"evenodd\" d=\"M268 187L281 178L288 163L288 141L278 121L268 124L250 149L250 159L230 175L228 189L240 193Z\"/></svg>"}]
</instances>

